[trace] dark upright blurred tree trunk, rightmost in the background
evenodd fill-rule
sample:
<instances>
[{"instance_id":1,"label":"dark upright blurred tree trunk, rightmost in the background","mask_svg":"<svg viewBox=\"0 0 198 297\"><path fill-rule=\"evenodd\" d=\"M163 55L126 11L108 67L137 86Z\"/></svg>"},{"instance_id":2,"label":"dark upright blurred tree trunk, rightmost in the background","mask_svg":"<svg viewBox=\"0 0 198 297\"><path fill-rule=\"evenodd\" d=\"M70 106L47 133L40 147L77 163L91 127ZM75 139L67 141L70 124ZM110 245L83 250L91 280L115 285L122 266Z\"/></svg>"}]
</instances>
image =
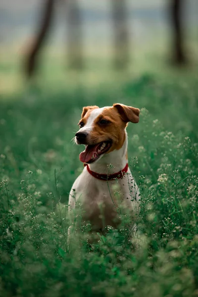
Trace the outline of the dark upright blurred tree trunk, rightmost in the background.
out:
<instances>
[{"instance_id":1,"label":"dark upright blurred tree trunk, rightmost in the background","mask_svg":"<svg viewBox=\"0 0 198 297\"><path fill-rule=\"evenodd\" d=\"M183 4L183 0L171 0L170 3L170 16L173 30L173 61L178 65L187 62L182 28L184 19Z\"/></svg>"}]
</instances>

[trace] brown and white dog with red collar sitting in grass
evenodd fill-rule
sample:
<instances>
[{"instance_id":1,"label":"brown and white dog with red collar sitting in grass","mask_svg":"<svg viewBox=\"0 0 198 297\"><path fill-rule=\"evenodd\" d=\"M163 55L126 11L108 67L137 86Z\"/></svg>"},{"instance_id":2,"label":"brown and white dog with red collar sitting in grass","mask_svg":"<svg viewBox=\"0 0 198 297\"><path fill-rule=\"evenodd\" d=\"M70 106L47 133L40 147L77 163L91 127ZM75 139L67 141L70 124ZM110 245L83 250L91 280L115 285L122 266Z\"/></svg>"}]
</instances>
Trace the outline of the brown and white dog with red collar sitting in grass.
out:
<instances>
[{"instance_id":1,"label":"brown and white dog with red collar sitting in grass","mask_svg":"<svg viewBox=\"0 0 198 297\"><path fill-rule=\"evenodd\" d=\"M103 234L107 226L119 227L121 214L130 213L131 230L137 229L140 193L128 167L126 127L138 123L139 114L139 108L120 103L83 108L75 142L85 145L79 155L85 167L69 194L68 242L79 216L80 224L90 223L92 232Z\"/></svg>"}]
</instances>

